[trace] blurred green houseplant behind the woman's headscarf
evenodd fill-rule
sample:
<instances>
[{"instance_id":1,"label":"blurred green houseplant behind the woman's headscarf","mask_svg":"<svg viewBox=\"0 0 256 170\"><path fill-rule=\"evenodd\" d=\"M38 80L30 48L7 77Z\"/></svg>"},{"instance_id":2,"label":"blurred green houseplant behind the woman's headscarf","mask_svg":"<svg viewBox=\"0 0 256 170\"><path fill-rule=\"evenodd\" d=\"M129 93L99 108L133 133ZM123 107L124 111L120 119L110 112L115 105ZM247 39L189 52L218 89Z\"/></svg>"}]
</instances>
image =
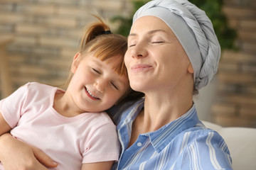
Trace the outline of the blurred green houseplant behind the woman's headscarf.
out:
<instances>
[{"instance_id":1,"label":"blurred green houseplant behind the woman's headscarf","mask_svg":"<svg viewBox=\"0 0 256 170\"><path fill-rule=\"evenodd\" d=\"M127 37L129 35L129 30L132 26L132 17L137 9L146 4L149 0L132 0L133 11L127 16L114 16L112 18L113 22L119 22L119 27L117 28L117 33ZM228 26L227 18L221 10L223 7L223 0L189 0L191 3L206 11L207 16L213 23L213 28L220 42L222 50L224 49L235 49L235 38L237 33L234 29Z\"/></svg>"}]
</instances>

